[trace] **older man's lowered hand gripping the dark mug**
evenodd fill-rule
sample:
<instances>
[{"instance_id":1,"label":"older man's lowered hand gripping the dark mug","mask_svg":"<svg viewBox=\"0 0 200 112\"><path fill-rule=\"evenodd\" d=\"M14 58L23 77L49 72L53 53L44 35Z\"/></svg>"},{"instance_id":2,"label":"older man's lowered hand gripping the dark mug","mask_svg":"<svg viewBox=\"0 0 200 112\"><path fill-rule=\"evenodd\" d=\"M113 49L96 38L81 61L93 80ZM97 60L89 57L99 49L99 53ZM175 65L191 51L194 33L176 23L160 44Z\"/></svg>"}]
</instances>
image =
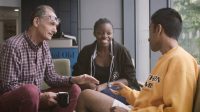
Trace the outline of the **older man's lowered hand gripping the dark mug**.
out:
<instances>
[{"instance_id":1,"label":"older man's lowered hand gripping the dark mug","mask_svg":"<svg viewBox=\"0 0 200 112\"><path fill-rule=\"evenodd\" d=\"M53 92L44 92L40 94L40 108L50 108L57 105L57 94Z\"/></svg>"}]
</instances>

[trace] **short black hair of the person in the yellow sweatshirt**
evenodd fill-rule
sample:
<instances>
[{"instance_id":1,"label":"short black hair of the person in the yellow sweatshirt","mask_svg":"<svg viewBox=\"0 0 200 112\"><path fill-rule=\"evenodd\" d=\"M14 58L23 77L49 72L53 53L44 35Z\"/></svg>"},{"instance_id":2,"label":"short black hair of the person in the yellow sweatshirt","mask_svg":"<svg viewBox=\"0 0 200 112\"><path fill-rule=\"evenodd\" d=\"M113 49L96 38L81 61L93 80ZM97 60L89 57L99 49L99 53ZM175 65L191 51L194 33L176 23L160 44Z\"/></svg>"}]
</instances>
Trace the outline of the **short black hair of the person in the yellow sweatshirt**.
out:
<instances>
[{"instance_id":1,"label":"short black hair of the person in the yellow sweatshirt","mask_svg":"<svg viewBox=\"0 0 200 112\"><path fill-rule=\"evenodd\" d=\"M152 15L151 22L155 27L160 24L167 36L178 40L182 31L182 19L176 10L172 8L159 9Z\"/></svg>"}]
</instances>

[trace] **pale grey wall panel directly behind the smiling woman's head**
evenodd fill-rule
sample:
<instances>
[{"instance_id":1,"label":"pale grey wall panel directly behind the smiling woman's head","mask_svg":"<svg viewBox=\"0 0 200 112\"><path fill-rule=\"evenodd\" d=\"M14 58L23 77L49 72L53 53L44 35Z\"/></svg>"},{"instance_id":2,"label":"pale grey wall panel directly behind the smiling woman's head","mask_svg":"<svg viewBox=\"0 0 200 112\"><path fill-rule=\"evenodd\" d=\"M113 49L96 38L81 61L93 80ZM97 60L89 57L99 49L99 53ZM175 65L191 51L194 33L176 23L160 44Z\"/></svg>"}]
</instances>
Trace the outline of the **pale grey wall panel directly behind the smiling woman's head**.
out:
<instances>
[{"instance_id":1,"label":"pale grey wall panel directly behind the smiling woman's head","mask_svg":"<svg viewBox=\"0 0 200 112\"><path fill-rule=\"evenodd\" d=\"M114 26L114 39L122 42L122 0L80 0L79 46L95 40L93 25L99 18L108 18Z\"/></svg>"}]
</instances>

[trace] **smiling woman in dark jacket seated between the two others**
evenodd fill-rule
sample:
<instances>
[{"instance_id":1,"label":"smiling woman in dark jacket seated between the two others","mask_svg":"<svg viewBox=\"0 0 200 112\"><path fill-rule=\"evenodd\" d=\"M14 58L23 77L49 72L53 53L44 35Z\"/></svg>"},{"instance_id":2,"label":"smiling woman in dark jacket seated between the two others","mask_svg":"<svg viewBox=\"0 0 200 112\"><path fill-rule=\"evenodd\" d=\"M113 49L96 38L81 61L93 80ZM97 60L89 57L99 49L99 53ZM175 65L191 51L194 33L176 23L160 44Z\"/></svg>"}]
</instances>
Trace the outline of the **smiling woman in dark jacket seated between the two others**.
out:
<instances>
[{"instance_id":1,"label":"smiling woman in dark jacket seated between the two others","mask_svg":"<svg viewBox=\"0 0 200 112\"><path fill-rule=\"evenodd\" d=\"M107 18L100 18L95 22L93 34L96 40L80 51L73 75L90 74L100 81L100 85L80 85L82 90L97 90L127 103L124 97L114 95L108 85L111 82L122 82L140 90L130 53L114 40L113 25Z\"/></svg>"}]
</instances>

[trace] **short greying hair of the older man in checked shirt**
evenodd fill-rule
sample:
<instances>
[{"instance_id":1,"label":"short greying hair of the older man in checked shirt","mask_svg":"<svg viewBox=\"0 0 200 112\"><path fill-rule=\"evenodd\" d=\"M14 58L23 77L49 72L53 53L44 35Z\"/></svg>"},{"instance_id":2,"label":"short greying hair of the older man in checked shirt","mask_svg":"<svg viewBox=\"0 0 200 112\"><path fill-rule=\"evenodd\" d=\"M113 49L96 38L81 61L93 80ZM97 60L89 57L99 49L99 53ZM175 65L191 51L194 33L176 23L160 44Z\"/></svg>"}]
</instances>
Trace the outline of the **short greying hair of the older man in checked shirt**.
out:
<instances>
[{"instance_id":1,"label":"short greying hair of the older man in checked shirt","mask_svg":"<svg viewBox=\"0 0 200 112\"><path fill-rule=\"evenodd\" d=\"M34 20L35 17L41 17L41 16L45 15L47 9L51 10L55 13L54 9L51 6L40 5L32 12L30 25L33 25L33 20Z\"/></svg>"}]
</instances>

